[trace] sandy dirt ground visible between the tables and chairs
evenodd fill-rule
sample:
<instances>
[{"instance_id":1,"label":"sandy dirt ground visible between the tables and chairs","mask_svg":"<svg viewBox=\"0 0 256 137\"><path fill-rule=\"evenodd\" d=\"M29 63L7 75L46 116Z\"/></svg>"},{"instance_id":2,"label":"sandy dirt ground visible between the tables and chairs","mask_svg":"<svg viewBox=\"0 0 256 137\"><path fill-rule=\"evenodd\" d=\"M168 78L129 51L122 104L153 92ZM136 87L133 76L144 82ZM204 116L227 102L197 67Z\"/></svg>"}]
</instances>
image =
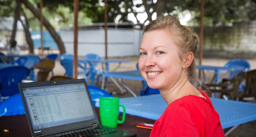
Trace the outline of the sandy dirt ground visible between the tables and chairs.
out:
<instances>
[{"instance_id":1,"label":"sandy dirt ground visible between the tables and chairs","mask_svg":"<svg viewBox=\"0 0 256 137\"><path fill-rule=\"evenodd\" d=\"M37 51L37 53L39 53L39 52ZM58 53L58 52L55 51L54 53ZM45 54L47 54L47 53L45 53ZM116 70L116 71L125 71L125 70L135 70L139 57L119 57L119 58L109 58L109 59L111 59L111 60L130 60L131 63L122 63L121 66ZM196 61L198 62L198 60L196 60ZM217 58L209 59L209 58L207 58L207 59L202 60L202 65L220 66L221 67L221 66L224 66L228 61L229 61L229 59L217 59ZM251 65L251 68L250 68L251 70L256 69L256 58L255 59L247 59L247 61ZM115 63L110 64L109 70L112 71L116 66L118 66L118 64L115 64ZM102 68L102 66L100 64L98 67ZM54 71L55 76L57 76L57 75L63 76L63 74L65 73L65 69L61 66L59 60L56 61L53 71ZM220 74L220 76L224 73L225 72L222 72ZM214 74L214 72L212 72L212 71L206 71L206 78L207 78L208 82L210 82L213 74ZM118 81L118 79L115 79L115 80ZM134 91L134 93L137 96L140 95L140 90L142 89L141 81L125 80L124 79L123 82L132 91ZM90 85L90 81L89 81L88 85ZM95 86L97 86L99 88L101 87L101 79L100 79L99 84L95 84ZM128 91L124 92L124 94L120 94L120 90L116 87L116 85L111 80L109 81L108 92L111 93L114 97L119 97L119 98L132 97L132 95ZM255 102L255 100L252 102ZM233 135L231 135L231 136L234 136L234 137L254 137L254 136L256 136L256 120L242 124L233 132Z\"/></svg>"}]
</instances>

